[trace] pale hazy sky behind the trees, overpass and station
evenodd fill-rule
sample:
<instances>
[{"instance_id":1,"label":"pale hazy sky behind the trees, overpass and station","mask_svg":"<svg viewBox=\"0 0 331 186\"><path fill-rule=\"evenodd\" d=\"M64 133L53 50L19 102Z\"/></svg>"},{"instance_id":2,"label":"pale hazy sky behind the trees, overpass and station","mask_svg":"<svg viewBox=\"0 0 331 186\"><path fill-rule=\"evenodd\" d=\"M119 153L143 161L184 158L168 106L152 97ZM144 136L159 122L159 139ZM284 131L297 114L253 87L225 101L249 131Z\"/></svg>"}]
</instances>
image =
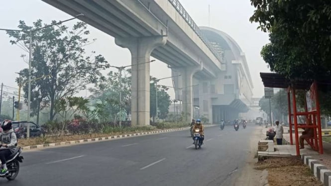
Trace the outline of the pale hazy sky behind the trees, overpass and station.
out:
<instances>
[{"instance_id":1,"label":"pale hazy sky behind the trees, overpass and station","mask_svg":"<svg viewBox=\"0 0 331 186\"><path fill-rule=\"evenodd\" d=\"M229 34L241 47L246 55L250 74L253 80L254 97L263 95L263 84L259 72L269 72L266 63L260 57L260 50L268 43L268 35L256 30L257 24L249 22L253 7L249 0L180 0L198 26L209 26L208 5L211 6L211 27ZM5 0L0 6L0 28L16 29L19 20L24 20L28 25L37 19L45 23L51 20L64 20L71 18L70 15L52 7L41 0ZM76 21L67 22L70 26ZM102 54L113 66L130 65L130 53L127 49L118 47L114 38L100 30L88 27L90 37L97 41L87 47L87 52L96 51ZM21 54L26 54L22 49L9 43L9 38L4 31L0 31L0 83L9 87L17 87L14 82L15 72L27 68ZM111 69L115 71L115 69ZM108 70L109 71L109 70ZM160 61L151 63L151 76L164 78L171 76L171 70ZM161 80L160 84L172 86L171 79ZM6 92L14 89L4 88ZM173 89L168 93L174 97ZM85 92L80 93L85 95Z\"/></svg>"}]
</instances>

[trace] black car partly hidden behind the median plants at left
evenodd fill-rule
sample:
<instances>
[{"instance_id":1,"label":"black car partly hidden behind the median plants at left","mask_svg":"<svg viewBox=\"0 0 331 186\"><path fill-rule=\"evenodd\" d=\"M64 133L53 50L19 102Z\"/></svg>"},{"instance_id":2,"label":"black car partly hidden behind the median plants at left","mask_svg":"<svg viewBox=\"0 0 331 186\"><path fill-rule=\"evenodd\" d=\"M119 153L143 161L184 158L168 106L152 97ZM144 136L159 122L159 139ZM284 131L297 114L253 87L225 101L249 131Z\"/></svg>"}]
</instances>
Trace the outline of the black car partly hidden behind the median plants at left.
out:
<instances>
[{"instance_id":1,"label":"black car partly hidden behind the median plants at left","mask_svg":"<svg viewBox=\"0 0 331 186\"><path fill-rule=\"evenodd\" d=\"M12 121L12 128L17 138L26 138L28 125L30 126L30 137L38 137L42 134L42 128L32 121Z\"/></svg>"}]
</instances>

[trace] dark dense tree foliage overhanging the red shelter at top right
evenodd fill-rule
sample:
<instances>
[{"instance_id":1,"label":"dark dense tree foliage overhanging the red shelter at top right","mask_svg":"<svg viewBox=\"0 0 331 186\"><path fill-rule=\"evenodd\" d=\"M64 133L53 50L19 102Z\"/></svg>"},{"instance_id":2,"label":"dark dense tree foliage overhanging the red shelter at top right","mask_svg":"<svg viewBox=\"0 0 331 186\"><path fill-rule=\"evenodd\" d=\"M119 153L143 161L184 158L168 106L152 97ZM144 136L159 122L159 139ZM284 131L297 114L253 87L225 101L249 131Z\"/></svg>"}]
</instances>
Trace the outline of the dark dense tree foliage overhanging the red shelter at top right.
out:
<instances>
[{"instance_id":1,"label":"dark dense tree foliage overhanging the red shelter at top right","mask_svg":"<svg viewBox=\"0 0 331 186\"><path fill-rule=\"evenodd\" d=\"M250 17L270 44L261 55L271 71L292 80L319 79L331 73L331 1L251 0Z\"/></svg>"}]
</instances>

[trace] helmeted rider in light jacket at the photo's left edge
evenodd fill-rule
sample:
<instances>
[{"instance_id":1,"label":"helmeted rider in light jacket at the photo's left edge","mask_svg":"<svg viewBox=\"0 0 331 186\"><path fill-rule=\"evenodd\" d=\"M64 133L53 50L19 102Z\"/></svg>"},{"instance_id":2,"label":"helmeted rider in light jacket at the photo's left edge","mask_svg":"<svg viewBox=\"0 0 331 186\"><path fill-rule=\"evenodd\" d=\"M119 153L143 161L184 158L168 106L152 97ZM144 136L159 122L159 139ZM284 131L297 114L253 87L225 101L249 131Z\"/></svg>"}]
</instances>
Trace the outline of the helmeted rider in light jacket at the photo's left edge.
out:
<instances>
[{"instance_id":1,"label":"helmeted rider in light jacket at the photo's left edge","mask_svg":"<svg viewBox=\"0 0 331 186\"><path fill-rule=\"evenodd\" d=\"M13 148L17 145L17 138L14 130L11 127L12 122L8 119L1 122L2 132L0 134L0 160L1 160L1 169L0 176L8 174L8 169L6 165L6 158L11 155L14 151Z\"/></svg>"}]
</instances>

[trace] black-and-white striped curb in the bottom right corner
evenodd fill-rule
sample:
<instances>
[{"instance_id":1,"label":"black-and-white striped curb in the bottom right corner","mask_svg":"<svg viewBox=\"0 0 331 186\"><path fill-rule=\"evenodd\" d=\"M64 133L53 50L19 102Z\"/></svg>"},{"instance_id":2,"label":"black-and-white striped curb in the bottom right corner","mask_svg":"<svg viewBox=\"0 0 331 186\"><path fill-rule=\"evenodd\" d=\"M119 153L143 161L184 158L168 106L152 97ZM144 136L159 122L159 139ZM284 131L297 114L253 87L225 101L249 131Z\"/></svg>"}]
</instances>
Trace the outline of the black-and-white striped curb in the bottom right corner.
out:
<instances>
[{"instance_id":1,"label":"black-and-white striped curb in the bottom right corner","mask_svg":"<svg viewBox=\"0 0 331 186\"><path fill-rule=\"evenodd\" d=\"M331 186L331 170L311 156L303 154L301 155L301 159L305 165L309 166L314 176L320 180L324 186Z\"/></svg>"}]
</instances>

